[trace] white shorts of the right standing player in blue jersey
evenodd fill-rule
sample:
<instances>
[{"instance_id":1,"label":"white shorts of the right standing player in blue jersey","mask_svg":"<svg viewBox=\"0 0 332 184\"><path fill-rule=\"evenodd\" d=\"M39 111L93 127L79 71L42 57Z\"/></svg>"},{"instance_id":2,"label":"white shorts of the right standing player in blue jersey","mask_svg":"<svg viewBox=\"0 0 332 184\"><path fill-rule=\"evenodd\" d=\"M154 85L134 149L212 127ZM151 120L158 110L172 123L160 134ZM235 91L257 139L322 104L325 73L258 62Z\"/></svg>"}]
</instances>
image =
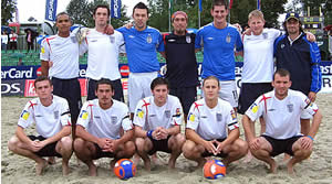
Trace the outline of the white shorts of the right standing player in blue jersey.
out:
<instances>
[{"instance_id":1,"label":"white shorts of the right standing player in blue jersey","mask_svg":"<svg viewBox=\"0 0 332 184\"><path fill-rule=\"evenodd\" d=\"M236 80L219 80L219 97L228 101L232 107L238 107L239 96L237 91ZM204 97L204 93L201 95Z\"/></svg>"}]
</instances>

